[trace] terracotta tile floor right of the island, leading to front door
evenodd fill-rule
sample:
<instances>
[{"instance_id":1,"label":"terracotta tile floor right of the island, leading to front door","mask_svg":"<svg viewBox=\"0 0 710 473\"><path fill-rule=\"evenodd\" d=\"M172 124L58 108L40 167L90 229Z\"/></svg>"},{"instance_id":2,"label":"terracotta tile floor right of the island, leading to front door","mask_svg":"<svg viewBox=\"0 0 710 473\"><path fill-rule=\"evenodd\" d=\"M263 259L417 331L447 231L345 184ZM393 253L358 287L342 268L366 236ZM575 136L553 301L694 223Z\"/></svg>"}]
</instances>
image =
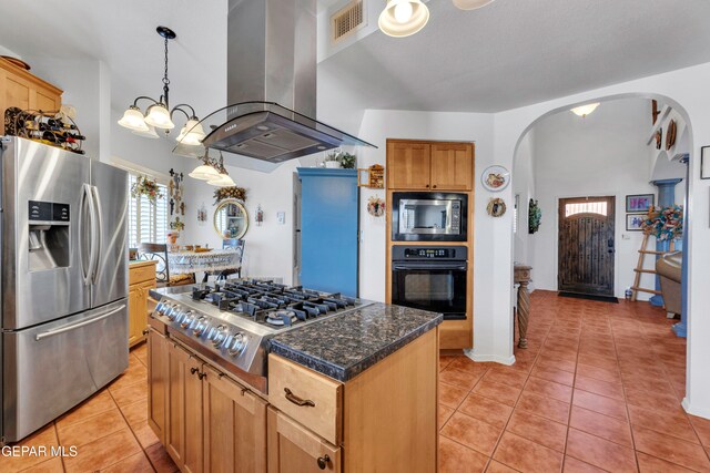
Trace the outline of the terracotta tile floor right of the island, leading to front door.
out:
<instances>
[{"instance_id":1,"label":"terracotta tile floor right of the island, leading to front door","mask_svg":"<svg viewBox=\"0 0 710 473\"><path fill-rule=\"evenodd\" d=\"M515 366L440 357L440 473L710 472L672 323L648 302L534 292Z\"/></svg>"}]
</instances>

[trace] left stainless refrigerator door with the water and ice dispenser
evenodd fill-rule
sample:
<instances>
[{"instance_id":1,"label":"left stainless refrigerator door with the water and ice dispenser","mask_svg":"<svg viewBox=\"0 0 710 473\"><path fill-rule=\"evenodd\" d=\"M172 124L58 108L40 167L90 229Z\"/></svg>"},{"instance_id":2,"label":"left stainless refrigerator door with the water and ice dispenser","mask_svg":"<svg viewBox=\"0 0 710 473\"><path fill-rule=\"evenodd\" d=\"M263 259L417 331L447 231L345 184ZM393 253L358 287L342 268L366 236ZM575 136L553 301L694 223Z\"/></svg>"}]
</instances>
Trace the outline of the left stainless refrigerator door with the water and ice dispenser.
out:
<instances>
[{"instance_id":1,"label":"left stainless refrigerator door with the water and ice dispenser","mask_svg":"<svg viewBox=\"0 0 710 473\"><path fill-rule=\"evenodd\" d=\"M90 160L18 137L0 145L2 328L89 309Z\"/></svg>"}]
</instances>

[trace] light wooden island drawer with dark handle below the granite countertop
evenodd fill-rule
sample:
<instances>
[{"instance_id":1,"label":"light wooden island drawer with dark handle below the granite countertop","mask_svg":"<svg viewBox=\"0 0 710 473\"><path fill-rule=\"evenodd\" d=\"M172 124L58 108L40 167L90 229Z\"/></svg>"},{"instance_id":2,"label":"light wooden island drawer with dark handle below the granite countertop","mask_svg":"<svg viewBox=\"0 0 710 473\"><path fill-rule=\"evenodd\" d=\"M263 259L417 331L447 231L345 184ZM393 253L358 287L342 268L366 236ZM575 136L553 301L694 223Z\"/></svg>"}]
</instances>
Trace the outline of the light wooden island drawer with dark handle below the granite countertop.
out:
<instances>
[{"instance_id":1,"label":"light wooden island drawer with dark handle below the granite countertop","mask_svg":"<svg viewBox=\"0 0 710 473\"><path fill-rule=\"evenodd\" d=\"M328 442L341 444L342 383L272 353L268 402Z\"/></svg>"}]
</instances>

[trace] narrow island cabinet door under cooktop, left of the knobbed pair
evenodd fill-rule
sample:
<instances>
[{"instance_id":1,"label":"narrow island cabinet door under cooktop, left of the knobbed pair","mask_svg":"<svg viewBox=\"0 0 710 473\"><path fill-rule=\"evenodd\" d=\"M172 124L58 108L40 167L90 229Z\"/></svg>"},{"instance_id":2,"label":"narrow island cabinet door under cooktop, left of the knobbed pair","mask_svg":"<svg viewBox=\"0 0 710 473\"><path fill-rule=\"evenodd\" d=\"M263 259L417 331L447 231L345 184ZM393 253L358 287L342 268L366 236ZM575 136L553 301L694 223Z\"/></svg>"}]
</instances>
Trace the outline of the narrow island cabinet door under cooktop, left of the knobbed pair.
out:
<instances>
[{"instance_id":1,"label":"narrow island cabinet door under cooktop, left of the knobbed pair","mask_svg":"<svg viewBox=\"0 0 710 473\"><path fill-rule=\"evenodd\" d=\"M168 347L168 430L165 446L183 472L202 472L203 366L178 345Z\"/></svg>"}]
</instances>

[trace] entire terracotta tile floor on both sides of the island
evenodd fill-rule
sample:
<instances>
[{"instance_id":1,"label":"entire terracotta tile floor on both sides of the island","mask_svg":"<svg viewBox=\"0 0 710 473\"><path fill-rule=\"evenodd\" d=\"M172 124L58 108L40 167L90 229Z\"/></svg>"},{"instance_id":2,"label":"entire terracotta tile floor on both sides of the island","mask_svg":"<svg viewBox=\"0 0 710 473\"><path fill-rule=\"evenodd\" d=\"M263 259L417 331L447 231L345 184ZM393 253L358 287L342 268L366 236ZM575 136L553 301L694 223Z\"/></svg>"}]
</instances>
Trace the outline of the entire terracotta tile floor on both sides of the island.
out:
<instances>
[{"instance_id":1,"label":"entire terracotta tile floor on both sides of the island","mask_svg":"<svg viewBox=\"0 0 710 473\"><path fill-rule=\"evenodd\" d=\"M532 294L513 367L440 357L440 472L709 472L710 421L680 408L686 341L661 309ZM146 347L106 389L0 456L0 472L173 472L146 422Z\"/></svg>"}]
</instances>

